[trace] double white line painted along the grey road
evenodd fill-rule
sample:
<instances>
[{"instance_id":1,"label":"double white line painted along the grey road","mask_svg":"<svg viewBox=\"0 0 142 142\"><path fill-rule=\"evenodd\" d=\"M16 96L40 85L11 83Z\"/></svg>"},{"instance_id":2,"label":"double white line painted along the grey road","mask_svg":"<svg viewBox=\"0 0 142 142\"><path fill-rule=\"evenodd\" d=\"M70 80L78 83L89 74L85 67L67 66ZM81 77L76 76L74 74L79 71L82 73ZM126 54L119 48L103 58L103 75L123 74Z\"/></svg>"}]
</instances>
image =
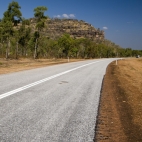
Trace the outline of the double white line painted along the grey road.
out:
<instances>
[{"instance_id":1,"label":"double white line painted along the grey road","mask_svg":"<svg viewBox=\"0 0 142 142\"><path fill-rule=\"evenodd\" d=\"M104 61L104 60L101 60L101 61ZM74 71L74 70L77 70L77 69L80 69L80 68L82 68L82 67L85 67L85 66L88 66L88 65L97 63L97 62L101 62L101 61L95 61L95 62L92 62L92 63L88 63L88 64L85 64L85 65L82 65L82 66L79 66L79 67L76 67L76 68L67 70L67 71L65 71L65 72L61 72L61 73L55 74L55 75L50 76L50 77L47 77L47 78L45 78L45 79L36 81L36 82L34 82L34 83L25 85L25 86L23 86L23 87L20 87L20 88L18 88L18 89L12 90L12 91L10 91L10 92L1 94L1 95L0 95L0 99L3 99L3 98L5 98L5 97L8 97L8 96L13 95L13 94L15 94L15 93L18 93L18 92L23 91L23 90L25 90L25 89L28 89L28 88L30 88L30 87L36 86L36 85L38 85L38 84L41 84L41 83L43 83L43 82L45 82L45 81L48 81L48 80L51 80L51 79L56 78L56 77L58 77L58 76L61 76L61 75L63 75L63 74L67 74L67 73L72 72L72 71Z\"/></svg>"}]
</instances>

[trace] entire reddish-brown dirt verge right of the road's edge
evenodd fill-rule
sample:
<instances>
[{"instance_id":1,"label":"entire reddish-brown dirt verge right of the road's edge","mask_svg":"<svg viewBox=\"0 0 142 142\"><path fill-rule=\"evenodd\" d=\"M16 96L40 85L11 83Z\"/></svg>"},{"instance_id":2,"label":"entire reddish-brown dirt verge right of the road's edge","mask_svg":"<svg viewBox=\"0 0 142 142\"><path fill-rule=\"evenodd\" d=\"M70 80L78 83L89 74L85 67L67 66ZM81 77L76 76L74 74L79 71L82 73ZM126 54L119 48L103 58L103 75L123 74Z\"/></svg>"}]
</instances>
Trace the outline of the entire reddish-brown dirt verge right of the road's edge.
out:
<instances>
[{"instance_id":1,"label":"entire reddish-brown dirt verge right of the road's edge","mask_svg":"<svg viewBox=\"0 0 142 142\"><path fill-rule=\"evenodd\" d=\"M95 135L95 142L142 142L142 59L108 66Z\"/></svg>"}]
</instances>

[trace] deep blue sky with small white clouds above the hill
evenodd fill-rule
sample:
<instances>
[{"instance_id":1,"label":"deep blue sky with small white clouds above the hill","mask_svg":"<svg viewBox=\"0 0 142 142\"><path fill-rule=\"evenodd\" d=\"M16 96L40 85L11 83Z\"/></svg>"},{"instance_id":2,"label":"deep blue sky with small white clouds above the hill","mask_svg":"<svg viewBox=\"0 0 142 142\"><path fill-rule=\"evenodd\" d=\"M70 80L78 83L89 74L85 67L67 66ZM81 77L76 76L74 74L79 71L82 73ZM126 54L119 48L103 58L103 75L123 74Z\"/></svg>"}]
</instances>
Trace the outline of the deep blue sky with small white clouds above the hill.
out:
<instances>
[{"instance_id":1,"label":"deep blue sky with small white clouds above the hill","mask_svg":"<svg viewBox=\"0 0 142 142\"><path fill-rule=\"evenodd\" d=\"M105 38L123 48L142 50L142 0L15 0L22 17L34 17L34 8L46 6L50 18L83 20L105 32ZM0 0L0 19L12 0Z\"/></svg>"}]
</instances>

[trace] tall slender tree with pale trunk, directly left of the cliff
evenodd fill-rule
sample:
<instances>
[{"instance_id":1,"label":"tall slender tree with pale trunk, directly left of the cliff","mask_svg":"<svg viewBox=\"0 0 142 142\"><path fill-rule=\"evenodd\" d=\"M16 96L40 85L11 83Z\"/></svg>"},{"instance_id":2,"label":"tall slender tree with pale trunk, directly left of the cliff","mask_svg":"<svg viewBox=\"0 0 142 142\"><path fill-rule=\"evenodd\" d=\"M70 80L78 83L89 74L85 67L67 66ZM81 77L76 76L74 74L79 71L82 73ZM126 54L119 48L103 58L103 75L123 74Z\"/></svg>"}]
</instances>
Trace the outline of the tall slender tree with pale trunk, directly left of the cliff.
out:
<instances>
[{"instance_id":1,"label":"tall slender tree with pale trunk, directly left of the cliff","mask_svg":"<svg viewBox=\"0 0 142 142\"><path fill-rule=\"evenodd\" d=\"M47 7L39 6L34 9L34 16L36 18L36 29L35 31L35 53L34 53L34 59L37 58L37 48L38 48L38 39L40 37L40 31L45 27L45 20L47 19L46 16L44 16L44 12L47 11Z\"/></svg>"}]
</instances>

